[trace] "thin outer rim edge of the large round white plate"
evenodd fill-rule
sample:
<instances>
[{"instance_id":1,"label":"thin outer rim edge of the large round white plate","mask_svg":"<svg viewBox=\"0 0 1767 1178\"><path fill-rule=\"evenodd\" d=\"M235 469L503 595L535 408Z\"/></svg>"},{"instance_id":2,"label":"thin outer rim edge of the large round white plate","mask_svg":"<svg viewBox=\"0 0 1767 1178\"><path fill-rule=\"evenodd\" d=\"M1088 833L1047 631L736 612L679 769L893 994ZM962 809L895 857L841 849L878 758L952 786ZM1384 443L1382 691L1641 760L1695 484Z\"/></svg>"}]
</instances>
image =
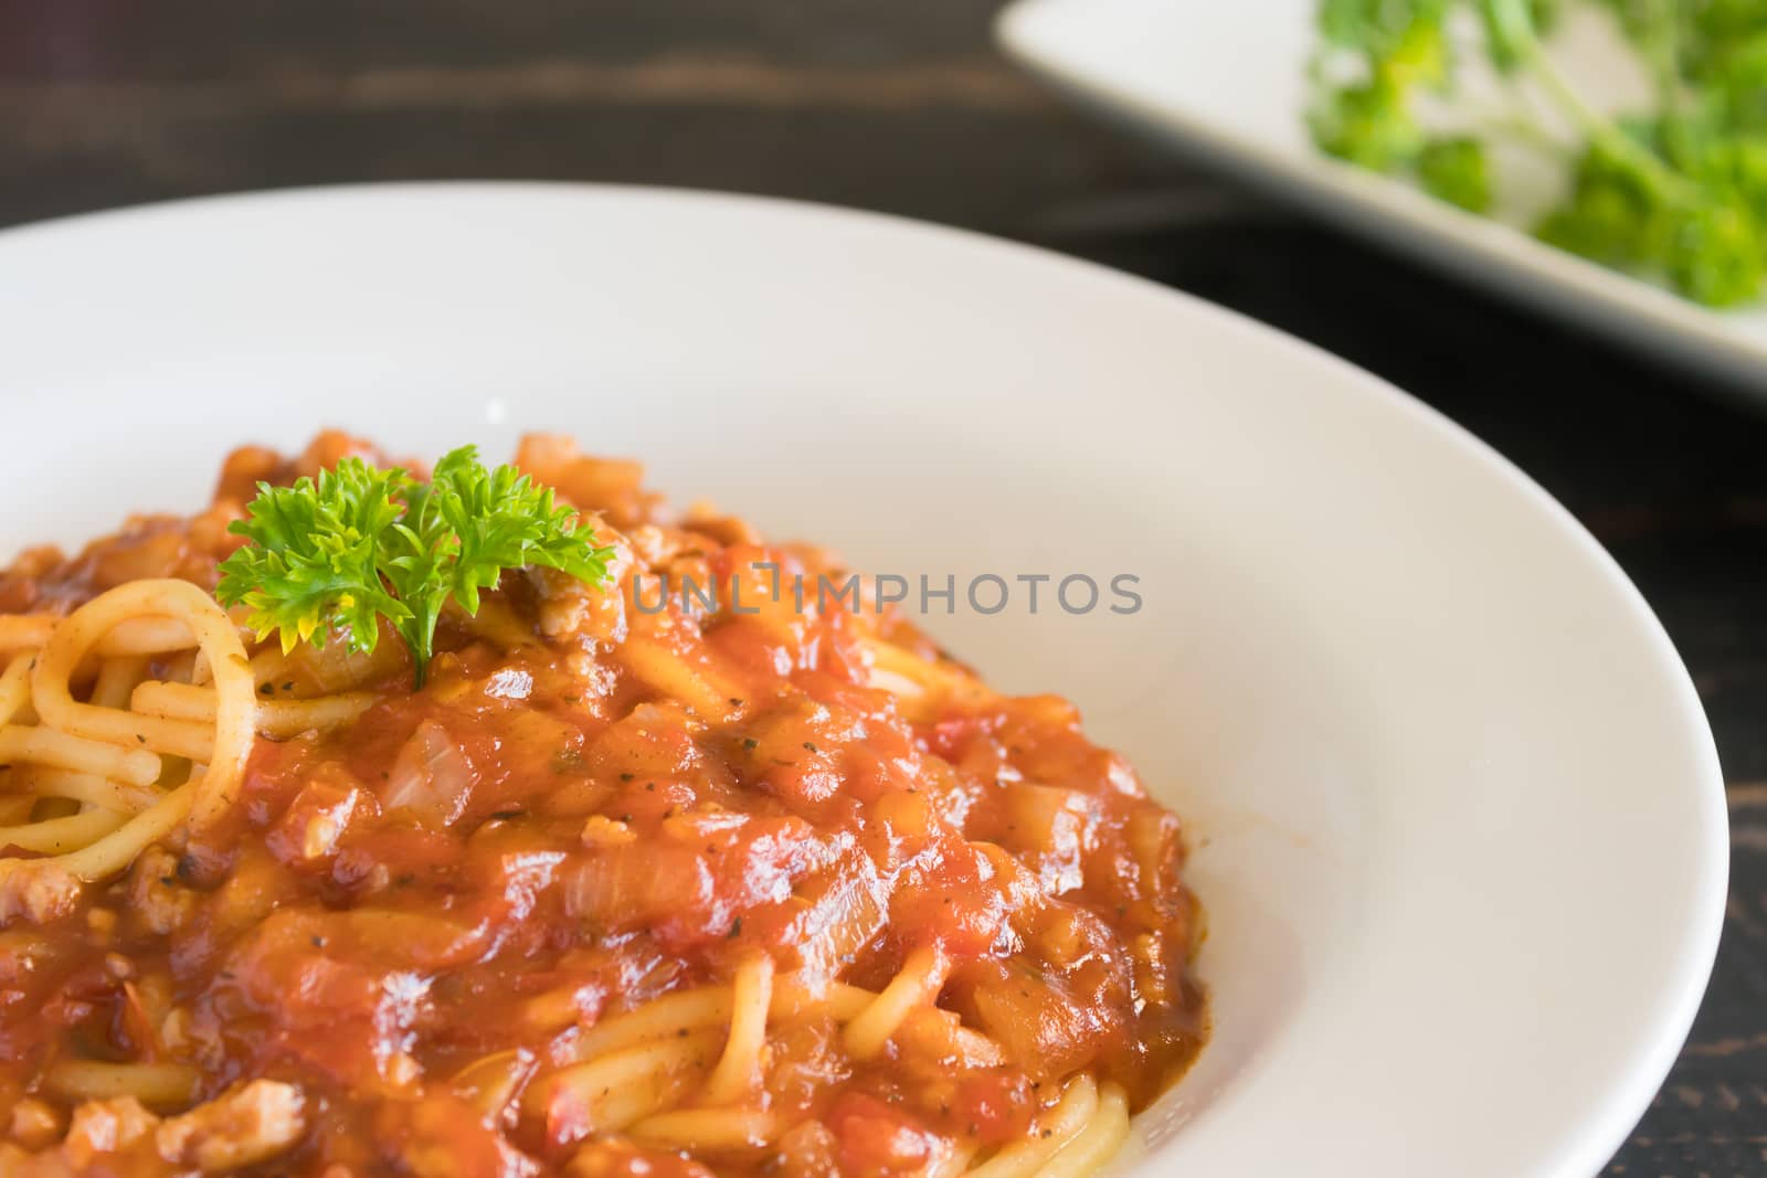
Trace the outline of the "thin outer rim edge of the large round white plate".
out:
<instances>
[{"instance_id":1,"label":"thin outer rim edge of the large round white plate","mask_svg":"<svg viewBox=\"0 0 1767 1178\"><path fill-rule=\"evenodd\" d=\"M1028 0L1043 4L1046 0ZM1665 685L1675 699L1672 722L1680 729L1680 738L1689 745L1696 763L1689 765L1691 788L1687 805L1696 812L1696 828L1709 844L1709 855L1696 865L1700 878L1696 887L1696 911L1689 913L1691 936L1684 943L1684 961L1679 963L1675 985L1665 987L1663 1010L1654 1035L1640 1049L1624 1072L1610 1077L1601 1099L1599 1113L1592 1113L1587 1123L1571 1129L1557 1150L1557 1157L1541 1159L1557 1167L1555 1173L1583 1173L1599 1169L1615 1150L1624 1144L1633 1127L1638 1123L1652 1097L1661 1088L1672 1065L1680 1054L1693 1019L1703 1001L1718 945L1723 933L1725 902L1728 897L1730 872L1730 834L1728 804L1725 795L1725 777L1718 758L1716 740L1703 703L1693 685L1691 675L1677 652L1661 620L1650 609L1643 593L1626 576L1619 562L1601 546L1583 525L1541 487L1520 466L1504 457L1491 445L1472 434L1468 429L1449 419L1440 410L1407 394L1392 381L1376 376L1343 357L1338 357L1318 344L1290 336L1276 327L1262 323L1248 314L1209 302L1198 295L1163 286L1122 270L1074 258L1043 245L993 237L967 228L919 221L896 214L871 212L830 203L758 196L747 193L723 193L709 189L641 185L641 184L601 184L601 182L550 182L550 180L415 180L391 184L325 184L293 189L262 189L246 193L221 193L166 201L150 201L81 212L64 217L32 221L0 230L0 268L12 249L28 242L53 242L60 237L78 238L92 230L106 231L134 230L152 226L161 219L200 219L214 208L253 207L269 210L272 215L284 215L283 210L302 208L315 203L352 203L352 201L401 201L401 200L477 200L509 201L546 198L569 200L590 196L597 200L629 201L666 201L698 208L739 208L776 217L811 217L830 223L846 223L882 228L891 233L912 237L944 238L961 249L981 251L991 256L1018 256L1034 260L1053 276L1067 276L1090 283L1115 284L1138 297L1164 298L1172 307L1194 316L1212 327L1240 336L1265 350L1286 351L1301 362L1334 369L1338 383L1345 394L1354 394L1362 404L1380 406L1378 412L1407 415L1412 424L1437 436L1444 445L1456 449L1468 461L1481 466L1484 477L1507 484L1518 491L1527 503L1543 514L1544 521L1555 526L1555 533L1567 544L1580 549L1590 560L1601 581L1617 593L1617 604L1624 606L1629 627L1643 641L1649 653L1670 680ZM140 230L136 230L140 231ZM1587 1166L1585 1166L1587 1162Z\"/></svg>"}]
</instances>

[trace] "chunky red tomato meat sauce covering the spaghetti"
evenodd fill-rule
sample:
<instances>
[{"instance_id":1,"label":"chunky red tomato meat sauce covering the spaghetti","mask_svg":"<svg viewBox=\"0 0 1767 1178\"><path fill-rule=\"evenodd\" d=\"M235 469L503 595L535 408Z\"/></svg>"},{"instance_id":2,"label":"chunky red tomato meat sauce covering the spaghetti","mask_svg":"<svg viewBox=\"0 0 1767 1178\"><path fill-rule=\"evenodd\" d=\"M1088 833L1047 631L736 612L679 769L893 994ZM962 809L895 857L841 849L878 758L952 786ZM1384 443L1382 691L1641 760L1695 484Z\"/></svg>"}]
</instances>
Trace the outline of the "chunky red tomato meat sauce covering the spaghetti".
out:
<instances>
[{"instance_id":1,"label":"chunky red tomato meat sauce covering the spaghetti","mask_svg":"<svg viewBox=\"0 0 1767 1178\"><path fill-rule=\"evenodd\" d=\"M537 445L541 477L664 553L650 569L827 567L733 521L659 530L627 468ZM72 560L37 553L0 576L0 609L65 611L136 576L210 583L242 468L290 477L359 447L322 438L292 466L235 456L214 512L133 525ZM486 616L512 638L445 622L415 694L389 639L357 722L256 742L224 830L148 851L64 920L0 933L0 1109L28 1097L64 1118L42 1084L62 1058L182 1060L201 1097L254 1077L304 1093L300 1141L247 1173L891 1178L942 1137L1023 1134L1080 1070L1140 1107L1200 1047L1179 823L1062 699L979 692L910 717L869 682L869 622L839 609L645 616L611 590L560 600L519 576L495 597ZM705 668L730 715L648 685L610 641L622 627ZM880 632L938 659L899 620ZM267 687L323 678L304 659ZM728 982L744 954L880 989L933 943L952 959L938 1005L1007 1063L896 1047L857 1061L827 1019L770 1026L756 1100L792 1129L698 1160L583 1148L519 1100L488 1114L472 1099L474 1061L519 1049L537 1083L583 1028ZM53 1153L55 1134L37 1136ZM83 1173L177 1167L148 1141Z\"/></svg>"}]
</instances>

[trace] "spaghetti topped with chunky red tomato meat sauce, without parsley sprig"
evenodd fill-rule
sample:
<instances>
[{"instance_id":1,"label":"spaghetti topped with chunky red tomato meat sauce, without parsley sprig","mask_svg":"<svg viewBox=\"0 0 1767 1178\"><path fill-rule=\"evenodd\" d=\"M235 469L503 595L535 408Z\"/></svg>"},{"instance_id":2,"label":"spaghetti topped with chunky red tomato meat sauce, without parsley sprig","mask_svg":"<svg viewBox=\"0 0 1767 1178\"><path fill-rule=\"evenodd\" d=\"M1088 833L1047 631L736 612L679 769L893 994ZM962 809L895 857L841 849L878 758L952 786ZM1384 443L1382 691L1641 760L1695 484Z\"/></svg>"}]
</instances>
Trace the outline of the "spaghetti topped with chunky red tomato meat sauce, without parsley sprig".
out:
<instances>
[{"instance_id":1,"label":"spaghetti topped with chunky red tomato meat sauce, without parsley sprig","mask_svg":"<svg viewBox=\"0 0 1767 1178\"><path fill-rule=\"evenodd\" d=\"M0 574L0 1173L1071 1178L1200 1049L1177 819L1069 705L557 438L615 585L507 574L421 691L260 645L224 525L346 454Z\"/></svg>"}]
</instances>

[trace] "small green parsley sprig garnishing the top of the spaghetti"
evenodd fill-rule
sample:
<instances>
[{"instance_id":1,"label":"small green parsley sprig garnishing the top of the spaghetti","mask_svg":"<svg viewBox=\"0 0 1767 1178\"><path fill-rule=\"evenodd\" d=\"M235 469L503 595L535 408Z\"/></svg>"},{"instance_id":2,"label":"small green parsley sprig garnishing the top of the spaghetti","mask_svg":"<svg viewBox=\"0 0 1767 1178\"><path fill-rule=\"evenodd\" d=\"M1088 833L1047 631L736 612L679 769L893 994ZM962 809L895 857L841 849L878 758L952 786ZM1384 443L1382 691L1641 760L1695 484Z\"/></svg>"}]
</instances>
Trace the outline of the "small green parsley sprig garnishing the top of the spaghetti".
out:
<instances>
[{"instance_id":1,"label":"small green parsley sprig garnishing the top of the spaghetti","mask_svg":"<svg viewBox=\"0 0 1767 1178\"><path fill-rule=\"evenodd\" d=\"M595 585L613 555L550 487L514 466L486 470L470 445L428 482L359 457L292 487L260 482L246 514L230 530L249 544L221 562L216 597L244 604L258 639L279 634L283 653L329 634L373 652L385 618L412 652L417 687L449 600L477 615L481 590L534 565Z\"/></svg>"}]
</instances>

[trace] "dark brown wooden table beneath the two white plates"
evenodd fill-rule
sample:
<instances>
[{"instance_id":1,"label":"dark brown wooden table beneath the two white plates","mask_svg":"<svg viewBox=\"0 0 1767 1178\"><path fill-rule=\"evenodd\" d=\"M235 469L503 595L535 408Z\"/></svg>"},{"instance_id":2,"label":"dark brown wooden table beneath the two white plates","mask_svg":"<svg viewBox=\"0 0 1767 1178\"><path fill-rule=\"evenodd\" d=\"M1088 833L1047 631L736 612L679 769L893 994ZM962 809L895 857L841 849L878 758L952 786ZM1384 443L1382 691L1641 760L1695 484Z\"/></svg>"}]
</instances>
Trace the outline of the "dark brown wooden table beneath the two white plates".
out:
<instances>
[{"instance_id":1,"label":"dark brown wooden table beneath the two white plates","mask_svg":"<svg viewBox=\"0 0 1767 1178\"><path fill-rule=\"evenodd\" d=\"M1767 420L1069 115L990 49L995 7L0 0L0 224L337 180L772 193L1094 258L1394 380L1558 496L1693 668L1730 915L1693 1040L1606 1173L1767 1173Z\"/></svg>"}]
</instances>

